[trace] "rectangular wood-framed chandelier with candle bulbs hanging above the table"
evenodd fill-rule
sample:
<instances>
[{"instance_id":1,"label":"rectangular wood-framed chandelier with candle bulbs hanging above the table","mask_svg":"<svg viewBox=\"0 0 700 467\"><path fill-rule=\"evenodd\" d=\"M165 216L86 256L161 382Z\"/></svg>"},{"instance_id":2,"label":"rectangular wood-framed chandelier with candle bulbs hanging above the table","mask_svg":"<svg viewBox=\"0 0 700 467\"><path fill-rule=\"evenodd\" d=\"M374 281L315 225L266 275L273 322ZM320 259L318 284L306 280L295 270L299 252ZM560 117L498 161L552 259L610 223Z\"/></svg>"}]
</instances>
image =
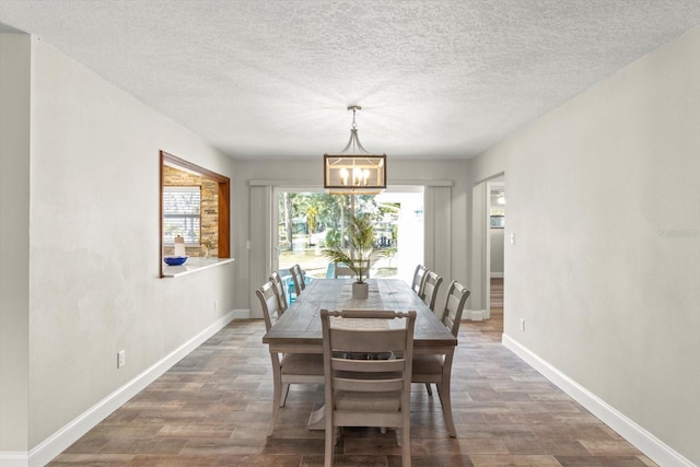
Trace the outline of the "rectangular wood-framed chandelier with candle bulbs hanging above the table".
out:
<instances>
[{"instance_id":1,"label":"rectangular wood-framed chandelier with candle bulbs hanging above the table","mask_svg":"<svg viewBox=\"0 0 700 467\"><path fill-rule=\"evenodd\" d=\"M352 110L350 140L338 154L324 154L324 188L331 195L376 195L386 188L386 154L372 154L360 143L355 113Z\"/></svg>"}]
</instances>

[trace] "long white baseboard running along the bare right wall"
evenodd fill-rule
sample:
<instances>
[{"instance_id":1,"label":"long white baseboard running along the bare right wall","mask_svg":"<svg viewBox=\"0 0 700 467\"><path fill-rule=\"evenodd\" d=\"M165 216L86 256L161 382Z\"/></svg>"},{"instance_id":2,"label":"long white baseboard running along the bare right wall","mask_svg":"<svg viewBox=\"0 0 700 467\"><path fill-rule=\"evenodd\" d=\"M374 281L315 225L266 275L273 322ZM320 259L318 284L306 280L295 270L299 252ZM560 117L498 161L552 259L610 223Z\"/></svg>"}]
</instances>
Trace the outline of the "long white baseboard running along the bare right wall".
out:
<instances>
[{"instance_id":1,"label":"long white baseboard running along the bare right wall","mask_svg":"<svg viewBox=\"0 0 700 467\"><path fill-rule=\"evenodd\" d=\"M644 428L627 418L615 407L608 405L605 400L581 386L547 361L539 358L539 355L512 339L505 332L502 336L502 342L509 350L540 372L547 380L559 386L561 390L590 410L656 464L664 467L697 467Z\"/></svg>"}]
</instances>

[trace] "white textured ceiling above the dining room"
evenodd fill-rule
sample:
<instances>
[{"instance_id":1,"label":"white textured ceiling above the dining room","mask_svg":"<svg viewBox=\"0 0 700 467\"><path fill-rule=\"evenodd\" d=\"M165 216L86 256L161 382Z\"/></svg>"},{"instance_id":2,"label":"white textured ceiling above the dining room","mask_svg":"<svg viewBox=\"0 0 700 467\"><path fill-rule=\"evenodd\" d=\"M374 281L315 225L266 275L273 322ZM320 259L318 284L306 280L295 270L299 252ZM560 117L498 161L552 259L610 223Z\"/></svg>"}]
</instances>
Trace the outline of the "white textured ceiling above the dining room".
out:
<instances>
[{"instance_id":1,"label":"white textured ceiling above the dining room","mask_svg":"<svg viewBox=\"0 0 700 467\"><path fill-rule=\"evenodd\" d=\"M471 157L700 24L698 0L1 0L233 157ZM10 26L10 28L7 28Z\"/></svg>"}]
</instances>

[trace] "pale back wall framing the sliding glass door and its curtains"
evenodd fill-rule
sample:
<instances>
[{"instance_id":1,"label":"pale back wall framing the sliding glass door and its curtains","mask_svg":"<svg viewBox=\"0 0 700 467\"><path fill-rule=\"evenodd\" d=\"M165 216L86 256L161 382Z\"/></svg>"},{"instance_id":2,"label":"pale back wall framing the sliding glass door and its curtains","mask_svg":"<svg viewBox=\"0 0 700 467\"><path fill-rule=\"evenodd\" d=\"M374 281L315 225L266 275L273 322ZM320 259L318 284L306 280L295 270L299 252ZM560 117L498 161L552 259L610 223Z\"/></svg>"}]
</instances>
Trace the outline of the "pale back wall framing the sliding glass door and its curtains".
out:
<instances>
[{"instance_id":1,"label":"pale back wall framing the sliding glass door and its curtains","mask_svg":"<svg viewBox=\"0 0 700 467\"><path fill-rule=\"evenodd\" d=\"M234 249L236 255L236 271L240 278L236 282L236 308L250 308L250 291L257 287L250 283L248 271L250 258L245 249L245 242L249 238L249 180L272 180L273 185L315 186L323 187L323 154L311 160L277 161L277 160L240 160L236 161L236 177L233 183L232 198L235 200L235 212L232 214L240 220L234 225ZM451 271L442 272L446 283L458 280L468 284L470 255L467 246L467 232L470 225L471 192L468 177L469 161L428 161L428 160L397 160L387 154L387 184L411 182L419 185L421 180L429 183L433 179L452 180L452 260ZM446 287L445 287L446 293ZM441 300L441 299L439 299ZM444 299L442 299L444 300ZM255 307L255 305L254 305Z\"/></svg>"}]
</instances>

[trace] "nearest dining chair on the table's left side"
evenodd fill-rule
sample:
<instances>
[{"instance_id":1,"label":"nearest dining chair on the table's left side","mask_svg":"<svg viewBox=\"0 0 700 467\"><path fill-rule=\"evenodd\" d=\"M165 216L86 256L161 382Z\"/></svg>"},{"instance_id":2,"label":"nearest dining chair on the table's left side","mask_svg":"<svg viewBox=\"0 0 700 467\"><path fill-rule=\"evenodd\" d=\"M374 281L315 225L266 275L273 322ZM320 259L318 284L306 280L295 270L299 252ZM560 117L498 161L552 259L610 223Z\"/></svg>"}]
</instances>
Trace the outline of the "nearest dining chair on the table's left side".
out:
<instances>
[{"instance_id":1,"label":"nearest dining chair on the table's left side","mask_svg":"<svg viewBox=\"0 0 700 467\"><path fill-rule=\"evenodd\" d=\"M270 330L272 317L280 316L279 300L275 292L275 281L268 281L255 291L262 306L265 328ZM291 384L324 384L324 359L320 353L283 353L270 352L272 359L272 418L267 435L275 432L275 424L280 407L287 404L287 395Z\"/></svg>"}]
</instances>

